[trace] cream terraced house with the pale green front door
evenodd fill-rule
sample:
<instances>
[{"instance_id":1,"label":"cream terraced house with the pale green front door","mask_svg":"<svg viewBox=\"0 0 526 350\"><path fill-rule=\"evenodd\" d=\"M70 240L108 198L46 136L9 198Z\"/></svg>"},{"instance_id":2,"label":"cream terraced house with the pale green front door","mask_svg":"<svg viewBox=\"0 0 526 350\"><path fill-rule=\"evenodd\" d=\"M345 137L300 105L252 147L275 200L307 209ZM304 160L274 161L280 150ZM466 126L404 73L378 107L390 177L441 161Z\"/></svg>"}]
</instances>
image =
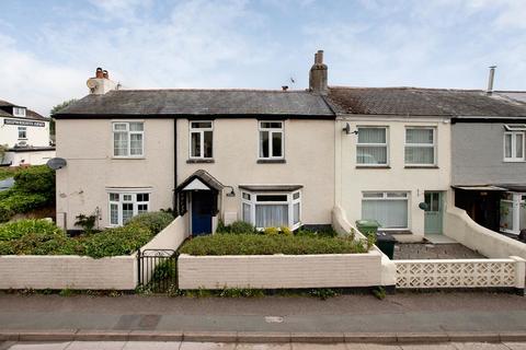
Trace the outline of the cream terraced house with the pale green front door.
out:
<instances>
[{"instance_id":1,"label":"cream terraced house with the pale green front door","mask_svg":"<svg viewBox=\"0 0 526 350\"><path fill-rule=\"evenodd\" d=\"M450 186L450 117L437 98L448 91L338 88L336 202L354 222L373 219L399 241L443 233ZM425 203L425 207L424 207Z\"/></svg>"}]
</instances>

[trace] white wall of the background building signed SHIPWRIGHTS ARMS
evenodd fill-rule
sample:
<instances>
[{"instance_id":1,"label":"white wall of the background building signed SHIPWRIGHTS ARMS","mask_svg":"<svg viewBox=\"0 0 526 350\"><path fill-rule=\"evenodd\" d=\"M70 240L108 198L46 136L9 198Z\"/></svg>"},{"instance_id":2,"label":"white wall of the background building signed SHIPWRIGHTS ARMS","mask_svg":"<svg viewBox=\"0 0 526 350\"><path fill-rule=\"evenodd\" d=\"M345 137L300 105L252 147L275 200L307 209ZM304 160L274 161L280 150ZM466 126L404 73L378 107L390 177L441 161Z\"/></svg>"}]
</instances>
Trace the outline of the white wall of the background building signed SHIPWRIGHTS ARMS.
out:
<instances>
[{"instance_id":1,"label":"white wall of the background building signed SHIPWRIGHTS ARMS","mask_svg":"<svg viewBox=\"0 0 526 350\"><path fill-rule=\"evenodd\" d=\"M19 142L19 126L5 125L5 119L44 122L44 127L25 126L27 132L27 140L25 141L28 145L33 147L49 145L49 121L16 117L0 117L0 144L8 144L9 147L14 147Z\"/></svg>"}]
</instances>

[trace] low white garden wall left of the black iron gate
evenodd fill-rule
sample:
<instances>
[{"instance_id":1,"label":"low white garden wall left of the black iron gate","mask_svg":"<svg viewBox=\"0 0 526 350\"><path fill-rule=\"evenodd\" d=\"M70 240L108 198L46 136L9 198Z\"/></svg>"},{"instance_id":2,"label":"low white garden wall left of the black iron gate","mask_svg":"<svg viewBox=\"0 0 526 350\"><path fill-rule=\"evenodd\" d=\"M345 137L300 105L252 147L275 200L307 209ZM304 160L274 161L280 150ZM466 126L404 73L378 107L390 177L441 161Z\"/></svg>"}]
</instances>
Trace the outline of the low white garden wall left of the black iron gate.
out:
<instances>
[{"instance_id":1,"label":"low white garden wall left of the black iron gate","mask_svg":"<svg viewBox=\"0 0 526 350\"><path fill-rule=\"evenodd\" d=\"M137 257L0 255L0 289L133 290Z\"/></svg>"}]
</instances>

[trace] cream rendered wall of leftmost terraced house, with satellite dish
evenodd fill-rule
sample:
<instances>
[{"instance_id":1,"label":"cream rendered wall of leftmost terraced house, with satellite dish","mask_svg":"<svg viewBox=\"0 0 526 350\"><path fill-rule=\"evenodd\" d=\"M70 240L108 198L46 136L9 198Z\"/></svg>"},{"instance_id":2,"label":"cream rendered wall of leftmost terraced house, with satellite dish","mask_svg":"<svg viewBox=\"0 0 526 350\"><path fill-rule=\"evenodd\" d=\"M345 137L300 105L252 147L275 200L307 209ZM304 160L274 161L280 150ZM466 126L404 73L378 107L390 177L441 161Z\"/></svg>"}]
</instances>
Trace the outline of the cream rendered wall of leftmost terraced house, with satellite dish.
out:
<instances>
[{"instance_id":1,"label":"cream rendered wall of leftmost terraced house, with satellite dish","mask_svg":"<svg viewBox=\"0 0 526 350\"><path fill-rule=\"evenodd\" d=\"M151 187L150 211L173 207L173 120L145 120L141 159L113 158L112 119L61 119L56 128L57 156L68 163L57 171L57 217L67 229L98 207L99 228L110 224L107 187Z\"/></svg>"}]
</instances>

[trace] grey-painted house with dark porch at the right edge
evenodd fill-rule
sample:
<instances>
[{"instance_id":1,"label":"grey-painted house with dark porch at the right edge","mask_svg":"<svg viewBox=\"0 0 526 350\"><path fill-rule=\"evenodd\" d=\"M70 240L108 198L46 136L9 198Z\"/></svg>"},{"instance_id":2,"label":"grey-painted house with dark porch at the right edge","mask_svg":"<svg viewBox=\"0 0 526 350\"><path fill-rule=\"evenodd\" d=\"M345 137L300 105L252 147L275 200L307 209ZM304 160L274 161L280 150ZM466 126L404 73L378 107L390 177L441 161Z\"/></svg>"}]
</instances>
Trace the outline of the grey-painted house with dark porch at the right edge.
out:
<instances>
[{"instance_id":1,"label":"grey-painted house with dark porch at the right edge","mask_svg":"<svg viewBox=\"0 0 526 350\"><path fill-rule=\"evenodd\" d=\"M479 224L526 229L526 93L478 91L453 118L455 205Z\"/></svg>"}]
</instances>

